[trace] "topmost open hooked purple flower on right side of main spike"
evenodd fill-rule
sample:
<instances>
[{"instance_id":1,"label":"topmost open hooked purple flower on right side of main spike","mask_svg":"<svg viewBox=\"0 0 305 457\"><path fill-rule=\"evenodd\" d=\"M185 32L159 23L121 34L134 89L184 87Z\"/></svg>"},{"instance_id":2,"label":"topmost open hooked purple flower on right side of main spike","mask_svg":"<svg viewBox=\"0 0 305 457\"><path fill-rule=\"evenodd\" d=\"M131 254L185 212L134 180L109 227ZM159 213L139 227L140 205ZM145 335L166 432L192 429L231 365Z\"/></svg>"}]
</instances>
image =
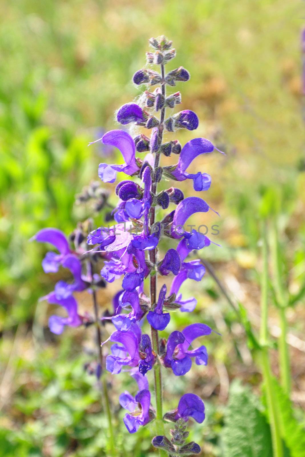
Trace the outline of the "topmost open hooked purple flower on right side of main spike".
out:
<instances>
[{"instance_id":1,"label":"topmost open hooked purple flower on right side of main spike","mask_svg":"<svg viewBox=\"0 0 305 457\"><path fill-rule=\"evenodd\" d=\"M194 183L195 191L206 191L210 188L211 177L206 173L198 171L195 174L187 173L187 168L191 162L200 154L208 154L213 152L214 145L206 138L194 138L184 145L179 155L179 161L175 170L171 172L171 175L177 181L184 181L186 179L192 179ZM217 149L219 150L219 149ZM170 167L168 167L170 168Z\"/></svg>"}]
</instances>

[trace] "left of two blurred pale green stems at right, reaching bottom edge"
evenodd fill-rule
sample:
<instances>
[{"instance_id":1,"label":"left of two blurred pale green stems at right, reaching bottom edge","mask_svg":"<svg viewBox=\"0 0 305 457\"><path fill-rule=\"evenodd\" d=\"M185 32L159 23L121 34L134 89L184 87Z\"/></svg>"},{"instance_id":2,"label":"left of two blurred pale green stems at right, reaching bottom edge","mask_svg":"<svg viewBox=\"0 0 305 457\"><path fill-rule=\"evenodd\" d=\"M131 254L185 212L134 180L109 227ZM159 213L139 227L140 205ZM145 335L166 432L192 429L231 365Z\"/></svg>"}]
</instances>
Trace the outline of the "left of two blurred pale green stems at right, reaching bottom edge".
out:
<instances>
[{"instance_id":1,"label":"left of two blurred pale green stems at right, reaching bottom edge","mask_svg":"<svg viewBox=\"0 0 305 457\"><path fill-rule=\"evenodd\" d=\"M266 399L272 437L273 457L283 457L283 443L280 435L279 421L277 420L277 402L272 386L272 372L268 353L268 248L267 227L265 221L263 221L262 238L263 271L261 276L260 356L263 369L263 379L266 386Z\"/></svg>"}]
</instances>

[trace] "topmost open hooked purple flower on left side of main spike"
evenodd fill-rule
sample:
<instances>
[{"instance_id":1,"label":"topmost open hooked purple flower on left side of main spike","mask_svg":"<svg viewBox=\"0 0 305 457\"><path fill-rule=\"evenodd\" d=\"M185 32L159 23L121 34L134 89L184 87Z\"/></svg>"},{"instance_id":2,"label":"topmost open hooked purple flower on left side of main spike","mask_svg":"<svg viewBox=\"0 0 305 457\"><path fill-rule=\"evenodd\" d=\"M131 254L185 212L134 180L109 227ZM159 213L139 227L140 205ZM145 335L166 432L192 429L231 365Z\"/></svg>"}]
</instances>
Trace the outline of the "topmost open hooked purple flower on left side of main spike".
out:
<instances>
[{"instance_id":1,"label":"topmost open hooked purple flower on left side of main spike","mask_svg":"<svg viewBox=\"0 0 305 457\"><path fill-rule=\"evenodd\" d=\"M115 182L116 172L123 171L126 175L133 175L139 170L136 162L136 147L132 137L124 130L110 130L102 138L89 144L101 141L103 144L110 144L120 150L125 163L122 165L99 165L99 177L104 182Z\"/></svg>"}]
</instances>

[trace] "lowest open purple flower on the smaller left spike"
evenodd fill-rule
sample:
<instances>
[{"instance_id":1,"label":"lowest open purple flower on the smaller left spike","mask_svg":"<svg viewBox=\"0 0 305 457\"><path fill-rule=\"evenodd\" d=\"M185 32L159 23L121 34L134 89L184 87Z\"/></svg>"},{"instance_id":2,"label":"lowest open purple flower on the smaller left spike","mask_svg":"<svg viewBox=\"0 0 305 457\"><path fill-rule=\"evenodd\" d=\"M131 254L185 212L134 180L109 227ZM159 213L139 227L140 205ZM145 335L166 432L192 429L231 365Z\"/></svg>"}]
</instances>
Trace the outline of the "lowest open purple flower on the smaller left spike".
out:
<instances>
[{"instance_id":1,"label":"lowest open purple flower on the smaller left spike","mask_svg":"<svg viewBox=\"0 0 305 457\"><path fill-rule=\"evenodd\" d=\"M55 292L51 292L40 300L47 300L51 304L60 305L65 308L68 313L68 317L53 315L49 318L49 328L52 333L60 335L63 333L65 325L68 325L69 327L78 327L82 324L82 320L77 313L77 302L72 295L67 298L57 298Z\"/></svg>"}]
</instances>

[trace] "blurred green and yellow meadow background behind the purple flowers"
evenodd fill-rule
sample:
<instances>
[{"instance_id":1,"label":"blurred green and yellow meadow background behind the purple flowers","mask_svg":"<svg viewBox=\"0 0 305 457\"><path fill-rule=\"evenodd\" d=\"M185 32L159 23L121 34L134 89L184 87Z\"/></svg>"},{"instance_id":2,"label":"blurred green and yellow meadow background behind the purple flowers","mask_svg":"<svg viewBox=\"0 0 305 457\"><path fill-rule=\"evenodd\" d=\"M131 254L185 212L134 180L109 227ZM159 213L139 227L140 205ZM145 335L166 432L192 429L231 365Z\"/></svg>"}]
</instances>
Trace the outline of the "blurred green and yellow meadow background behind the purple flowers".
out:
<instances>
[{"instance_id":1,"label":"blurred green and yellow meadow background behind the purple flowers","mask_svg":"<svg viewBox=\"0 0 305 457\"><path fill-rule=\"evenodd\" d=\"M220 233L210 238L221 247L213 245L202 256L229 296L209 273L195 286L186 285L184 293L198 300L196 311L192 316L174 314L168 330L200 319L222 336L205 341L207 367L195 366L183 379L166 377L166 405L174 408L186 386L198 393L207 419L203 426L193 426L191 436L204 442L204 455L220 456L230 382L239 379L254 393L261 392L261 371L236 308L242 305L245 320L256 331L259 207L264 196L273 195L283 281L291 304L291 399L294 415L304 424L301 2L16 0L2 1L1 9L0 455L107 455L99 392L94 377L83 369L92 356L91 330L67 328L59 337L50 334L51 307L37 301L53 290L58 276L43 273L47 248L29 239L44 227L68 235L87 217L95 218L98 226L104 223L104 214L77 205L75 196L98 179L100 161L116 161L116 151L87 144L118 128L114 112L141 93L131 83L132 74L145 65L147 40L161 34L173 40L177 50L167 69L182 65L191 73L188 83L175 88L182 92L177 111L191 109L200 118L196 131L179 131L174 137L184 144L203 136L226 152L197 159L193 170L212 176L203 197L221 217L212 213L198 222L209 228L219 225ZM114 186L105 188L115 203ZM183 189L186 196L194 194L188 185ZM103 290L100 306L110 306L117 290L115 283ZM80 294L78 299L86 310L86 298ZM278 375L280 329L272 300L269 331L272 369ZM129 380L121 375L112 383L117 409L118 393ZM149 427L126 437L124 413L116 413L122 454L150 455Z\"/></svg>"}]
</instances>

